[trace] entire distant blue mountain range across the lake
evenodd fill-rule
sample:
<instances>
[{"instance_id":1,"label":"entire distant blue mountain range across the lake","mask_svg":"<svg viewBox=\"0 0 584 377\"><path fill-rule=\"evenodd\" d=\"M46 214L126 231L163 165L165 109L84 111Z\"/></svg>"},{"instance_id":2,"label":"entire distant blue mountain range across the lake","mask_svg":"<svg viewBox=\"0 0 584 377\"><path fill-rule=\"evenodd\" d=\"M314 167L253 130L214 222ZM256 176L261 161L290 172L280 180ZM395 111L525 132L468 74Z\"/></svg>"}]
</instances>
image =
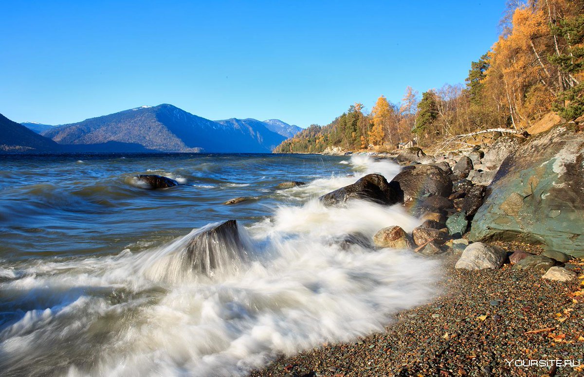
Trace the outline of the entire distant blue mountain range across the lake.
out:
<instances>
[{"instance_id":1,"label":"entire distant blue mountain range across the lake","mask_svg":"<svg viewBox=\"0 0 584 377\"><path fill-rule=\"evenodd\" d=\"M58 149L64 152L269 153L284 139L302 130L277 119L212 121L171 104L141 106L72 124L14 124L28 132L20 129L22 139L16 134L8 139L7 134L0 132L0 145L21 147L11 147L11 151L37 152ZM4 123L0 124L2 131L4 127ZM25 137L25 134L28 136ZM36 144L30 135L36 138Z\"/></svg>"}]
</instances>

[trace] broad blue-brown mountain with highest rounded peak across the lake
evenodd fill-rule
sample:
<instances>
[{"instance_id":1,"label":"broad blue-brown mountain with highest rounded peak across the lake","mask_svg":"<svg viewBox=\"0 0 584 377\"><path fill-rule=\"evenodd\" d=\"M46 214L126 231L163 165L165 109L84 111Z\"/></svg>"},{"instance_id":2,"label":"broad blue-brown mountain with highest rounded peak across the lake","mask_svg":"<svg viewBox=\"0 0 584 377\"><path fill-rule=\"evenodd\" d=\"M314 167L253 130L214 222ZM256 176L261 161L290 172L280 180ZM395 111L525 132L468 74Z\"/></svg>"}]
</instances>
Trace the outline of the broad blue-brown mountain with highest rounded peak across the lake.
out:
<instances>
[{"instance_id":1,"label":"broad blue-brown mountain with highest rounded peak across the lake","mask_svg":"<svg viewBox=\"0 0 584 377\"><path fill-rule=\"evenodd\" d=\"M255 122L215 122L171 104L161 104L59 125L44 131L43 135L59 144L116 141L164 152L269 153L285 139L268 130L263 122Z\"/></svg>"}]
</instances>

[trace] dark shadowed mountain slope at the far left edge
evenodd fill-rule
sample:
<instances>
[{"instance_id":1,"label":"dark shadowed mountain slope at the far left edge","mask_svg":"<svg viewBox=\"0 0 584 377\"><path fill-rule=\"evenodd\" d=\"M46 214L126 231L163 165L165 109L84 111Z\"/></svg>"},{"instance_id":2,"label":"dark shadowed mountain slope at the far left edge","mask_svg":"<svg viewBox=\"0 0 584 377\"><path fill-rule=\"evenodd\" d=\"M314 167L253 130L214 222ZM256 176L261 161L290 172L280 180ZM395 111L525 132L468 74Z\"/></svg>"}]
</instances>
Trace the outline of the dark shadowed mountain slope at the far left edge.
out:
<instances>
[{"instance_id":1,"label":"dark shadowed mountain slope at the far left edge","mask_svg":"<svg viewBox=\"0 0 584 377\"><path fill-rule=\"evenodd\" d=\"M0 152L55 152L60 145L0 114Z\"/></svg>"}]
</instances>

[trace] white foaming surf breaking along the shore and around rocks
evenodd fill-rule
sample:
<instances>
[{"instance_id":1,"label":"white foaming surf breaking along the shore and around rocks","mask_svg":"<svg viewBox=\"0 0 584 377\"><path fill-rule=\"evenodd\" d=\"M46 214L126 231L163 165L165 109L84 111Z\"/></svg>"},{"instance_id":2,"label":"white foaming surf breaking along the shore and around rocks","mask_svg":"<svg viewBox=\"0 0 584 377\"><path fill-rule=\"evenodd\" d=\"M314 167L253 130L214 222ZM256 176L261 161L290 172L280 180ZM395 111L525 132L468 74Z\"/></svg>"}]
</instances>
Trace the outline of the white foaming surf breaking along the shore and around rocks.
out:
<instances>
[{"instance_id":1,"label":"white foaming surf breaking along the shore and around rocks","mask_svg":"<svg viewBox=\"0 0 584 377\"><path fill-rule=\"evenodd\" d=\"M409 250L342 250L335 239L418 220L399 207L355 201L325 208L315 196L398 167L363 156L353 177L317 179L279 194L280 207L242 231L249 259L213 277L178 263L194 230L168 245L108 257L32 261L3 270L0 292L30 307L0 333L6 375L245 375L277 354L380 331L398 310L436 293L437 262ZM241 227L240 227L241 228ZM2 280L0 280L2 281Z\"/></svg>"}]
</instances>

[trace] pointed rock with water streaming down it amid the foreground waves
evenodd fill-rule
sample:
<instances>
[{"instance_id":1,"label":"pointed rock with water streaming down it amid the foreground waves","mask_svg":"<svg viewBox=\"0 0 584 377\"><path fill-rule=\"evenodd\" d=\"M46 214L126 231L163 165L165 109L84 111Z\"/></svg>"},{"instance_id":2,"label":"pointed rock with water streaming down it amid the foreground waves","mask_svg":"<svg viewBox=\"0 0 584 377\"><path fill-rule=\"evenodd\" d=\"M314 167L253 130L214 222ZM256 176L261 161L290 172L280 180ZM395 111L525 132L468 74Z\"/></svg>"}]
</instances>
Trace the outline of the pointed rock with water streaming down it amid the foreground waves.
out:
<instances>
[{"instance_id":1,"label":"pointed rock with water streaming down it amid the foreground waves","mask_svg":"<svg viewBox=\"0 0 584 377\"><path fill-rule=\"evenodd\" d=\"M187 245L185 263L190 270L213 276L237 267L248 256L237 221L229 220L197 235Z\"/></svg>"}]
</instances>

